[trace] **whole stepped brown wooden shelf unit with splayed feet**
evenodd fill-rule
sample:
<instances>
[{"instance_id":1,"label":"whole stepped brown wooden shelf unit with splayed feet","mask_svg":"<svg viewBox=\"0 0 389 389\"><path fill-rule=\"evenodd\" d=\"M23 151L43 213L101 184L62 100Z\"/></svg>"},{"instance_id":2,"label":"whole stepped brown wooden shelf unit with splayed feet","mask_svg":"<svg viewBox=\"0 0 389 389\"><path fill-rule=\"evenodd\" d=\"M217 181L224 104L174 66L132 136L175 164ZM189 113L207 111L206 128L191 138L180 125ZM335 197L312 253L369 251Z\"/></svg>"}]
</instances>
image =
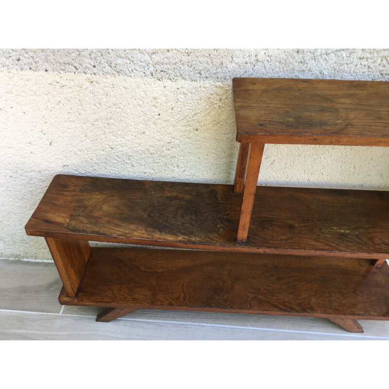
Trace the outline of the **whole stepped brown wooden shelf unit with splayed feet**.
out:
<instances>
[{"instance_id":1,"label":"whole stepped brown wooden shelf unit with splayed feet","mask_svg":"<svg viewBox=\"0 0 389 389\"><path fill-rule=\"evenodd\" d=\"M388 85L235 78L234 185L55 176L25 228L60 303L389 320L389 192L257 186L265 143L389 146Z\"/></svg>"}]
</instances>

